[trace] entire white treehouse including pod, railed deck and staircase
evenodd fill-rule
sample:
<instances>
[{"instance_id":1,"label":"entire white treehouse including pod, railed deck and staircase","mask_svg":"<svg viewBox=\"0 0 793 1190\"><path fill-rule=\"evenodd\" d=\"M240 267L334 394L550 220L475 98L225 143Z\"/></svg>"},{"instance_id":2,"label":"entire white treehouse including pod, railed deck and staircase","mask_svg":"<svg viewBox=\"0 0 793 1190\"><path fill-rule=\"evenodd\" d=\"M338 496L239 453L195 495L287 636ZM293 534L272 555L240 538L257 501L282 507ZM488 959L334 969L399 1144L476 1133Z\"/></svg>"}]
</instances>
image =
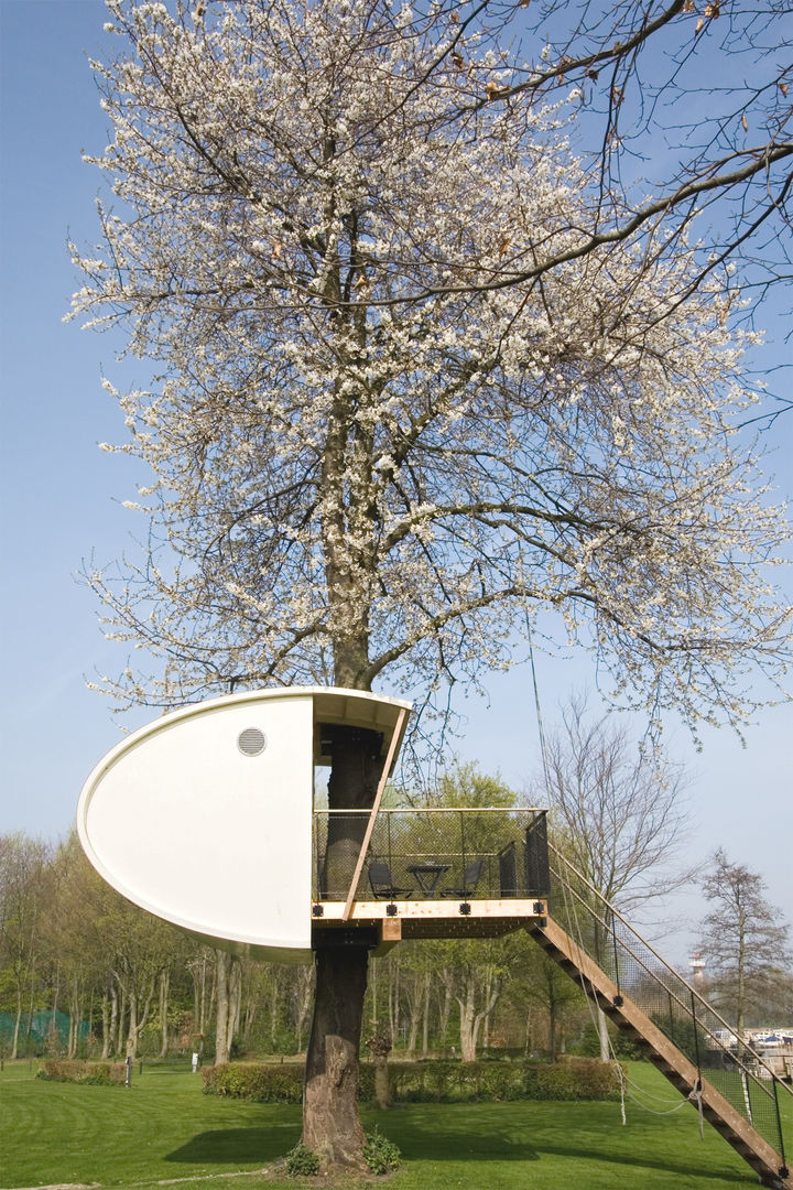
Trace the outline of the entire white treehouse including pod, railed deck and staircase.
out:
<instances>
[{"instance_id":1,"label":"entire white treehouse including pod, railed deck and staircase","mask_svg":"<svg viewBox=\"0 0 793 1190\"><path fill-rule=\"evenodd\" d=\"M728 1022L549 847L545 810L384 806L409 712L310 687L164 715L90 774L82 845L130 901L260 958L523 927L763 1185L793 1190L785 1085L760 1057L722 1044ZM326 804L316 772L328 765Z\"/></svg>"}]
</instances>

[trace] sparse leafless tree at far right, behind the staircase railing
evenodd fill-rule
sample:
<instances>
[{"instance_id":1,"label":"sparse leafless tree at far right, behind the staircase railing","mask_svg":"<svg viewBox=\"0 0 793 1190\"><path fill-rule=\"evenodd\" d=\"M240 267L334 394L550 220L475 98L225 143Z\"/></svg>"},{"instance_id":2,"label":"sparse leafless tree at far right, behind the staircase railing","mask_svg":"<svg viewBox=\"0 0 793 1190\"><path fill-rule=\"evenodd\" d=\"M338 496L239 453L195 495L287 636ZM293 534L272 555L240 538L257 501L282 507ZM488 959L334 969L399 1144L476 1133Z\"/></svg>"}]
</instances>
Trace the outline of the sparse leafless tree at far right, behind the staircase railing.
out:
<instances>
[{"instance_id":1,"label":"sparse leafless tree at far right, behind the staircase railing","mask_svg":"<svg viewBox=\"0 0 793 1190\"><path fill-rule=\"evenodd\" d=\"M711 912L703 919L700 948L710 994L742 1034L750 1006L789 997L789 926L764 897L766 882L719 847L703 879Z\"/></svg>"}]
</instances>

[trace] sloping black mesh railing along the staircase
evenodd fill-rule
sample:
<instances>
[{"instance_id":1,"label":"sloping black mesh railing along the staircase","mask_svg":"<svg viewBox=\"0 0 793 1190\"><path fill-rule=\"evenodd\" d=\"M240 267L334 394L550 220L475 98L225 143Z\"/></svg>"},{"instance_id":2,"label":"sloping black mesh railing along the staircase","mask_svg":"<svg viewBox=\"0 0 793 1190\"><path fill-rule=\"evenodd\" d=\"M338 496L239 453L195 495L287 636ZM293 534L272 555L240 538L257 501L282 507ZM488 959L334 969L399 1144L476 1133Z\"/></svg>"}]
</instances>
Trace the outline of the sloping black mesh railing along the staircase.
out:
<instances>
[{"instance_id":1,"label":"sloping black mesh railing along the staircase","mask_svg":"<svg viewBox=\"0 0 793 1190\"><path fill-rule=\"evenodd\" d=\"M549 850L554 920L783 1160L779 1096L791 1094L786 1084L553 845Z\"/></svg>"}]
</instances>

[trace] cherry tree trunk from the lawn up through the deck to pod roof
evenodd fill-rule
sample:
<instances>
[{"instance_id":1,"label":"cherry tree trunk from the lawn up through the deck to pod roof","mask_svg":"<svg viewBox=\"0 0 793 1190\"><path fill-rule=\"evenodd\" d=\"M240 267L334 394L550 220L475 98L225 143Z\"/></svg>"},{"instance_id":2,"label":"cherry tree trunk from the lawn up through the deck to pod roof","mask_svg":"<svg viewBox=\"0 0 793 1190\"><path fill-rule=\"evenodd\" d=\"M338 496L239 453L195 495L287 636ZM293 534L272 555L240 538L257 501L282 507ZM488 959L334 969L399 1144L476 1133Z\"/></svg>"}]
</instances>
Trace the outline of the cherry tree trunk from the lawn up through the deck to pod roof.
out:
<instances>
[{"instance_id":1,"label":"cherry tree trunk from the lawn up through the deck to pod roof","mask_svg":"<svg viewBox=\"0 0 793 1190\"><path fill-rule=\"evenodd\" d=\"M366 828L365 814L333 814L338 809L371 809L383 769L382 735L367 728L326 727L331 739L328 781L328 889L346 896ZM331 933L329 931L327 933ZM347 935L350 938L350 935ZM363 1171L364 1129L358 1114L358 1050L364 1015L369 945L316 948L314 1019L306 1057L303 1144L320 1158L323 1170Z\"/></svg>"}]
</instances>

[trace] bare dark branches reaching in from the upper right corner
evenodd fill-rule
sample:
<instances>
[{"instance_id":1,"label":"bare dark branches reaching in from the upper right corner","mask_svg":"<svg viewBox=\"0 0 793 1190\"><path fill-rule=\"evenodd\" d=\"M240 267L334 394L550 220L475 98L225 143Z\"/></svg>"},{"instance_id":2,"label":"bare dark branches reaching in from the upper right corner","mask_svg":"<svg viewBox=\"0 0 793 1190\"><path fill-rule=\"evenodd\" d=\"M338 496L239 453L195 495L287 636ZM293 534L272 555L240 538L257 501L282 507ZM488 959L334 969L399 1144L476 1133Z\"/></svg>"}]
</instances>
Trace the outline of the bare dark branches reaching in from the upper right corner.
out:
<instances>
[{"instance_id":1,"label":"bare dark branches reaching in from the upper right corner","mask_svg":"<svg viewBox=\"0 0 793 1190\"><path fill-rule=\"evenodd\" d=\"M742 265L742 292L757 298L791 280L788 18L774 0L581 0L574 11L566 0L472 0L423 14L455 24L448 54L473 80L462 105L517 96L536 104L575 88L575 123L600 199L575 252L640 230L656 237L659 251L678 251L696 223L699 268L691 284L732 258ZM497 77L474 69L493 63L470 45L472 26L490 35ZM547 240L533 262L491 283L539 277L567 251ZM789 397L778 399L789 408Z\"/></svg>"}]
</instances>

